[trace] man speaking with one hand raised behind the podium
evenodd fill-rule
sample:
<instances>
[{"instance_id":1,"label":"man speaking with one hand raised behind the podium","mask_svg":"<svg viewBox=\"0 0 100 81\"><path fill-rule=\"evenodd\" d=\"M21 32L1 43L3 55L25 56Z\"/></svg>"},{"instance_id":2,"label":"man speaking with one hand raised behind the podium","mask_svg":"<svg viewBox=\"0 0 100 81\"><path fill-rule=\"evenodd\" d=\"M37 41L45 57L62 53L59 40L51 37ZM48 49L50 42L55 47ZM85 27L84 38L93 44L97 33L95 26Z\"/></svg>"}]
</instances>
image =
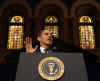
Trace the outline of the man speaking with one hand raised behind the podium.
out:
<instances>
[{"instance_id":1,"label":"man speaking with one hand raised behind the podium","mask_svg":"<svg viewBox=\"0 0 100 81\"><path fill-rule=\"evenodd\" d=\"M37 40L40 43L39 45L36 45L34 48L32 47L32 38L26 37L24 44L26 48L26 52L28 53L34 53L34 52L40 52L47 54L49 52L52 52L50 49L52 43L53 43L53 37L52 37L52 32L44 29L40 30L40 32L37 35Z\"/></svg>"}]
</instances>

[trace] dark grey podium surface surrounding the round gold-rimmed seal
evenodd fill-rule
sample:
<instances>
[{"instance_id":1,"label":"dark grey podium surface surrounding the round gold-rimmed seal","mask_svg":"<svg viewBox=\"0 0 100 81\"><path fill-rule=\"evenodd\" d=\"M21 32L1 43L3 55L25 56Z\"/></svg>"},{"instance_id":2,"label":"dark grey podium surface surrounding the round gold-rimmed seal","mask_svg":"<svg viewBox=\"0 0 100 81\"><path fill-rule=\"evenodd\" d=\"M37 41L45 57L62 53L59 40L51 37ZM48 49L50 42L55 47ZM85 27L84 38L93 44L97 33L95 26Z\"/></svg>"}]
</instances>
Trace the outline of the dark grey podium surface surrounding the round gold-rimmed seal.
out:
<instances>
[{"instance_id":1,"label":"dark grey podium surface surrounding the round gold-rimmed seal","mask_svg":"<svg viewBox=\"0 0 100 81\"><path fill-rule=\"evenodd\" d=\"M15 81L48 81L41 77L38 69L39 64L42 63L41 60L49 57L58 58L64 64L62 76L57 80L50 81L88 81L86 66L81 53L21 53ZM50 67L52 71L52 66Z\"/></svg>"}]
</instances>

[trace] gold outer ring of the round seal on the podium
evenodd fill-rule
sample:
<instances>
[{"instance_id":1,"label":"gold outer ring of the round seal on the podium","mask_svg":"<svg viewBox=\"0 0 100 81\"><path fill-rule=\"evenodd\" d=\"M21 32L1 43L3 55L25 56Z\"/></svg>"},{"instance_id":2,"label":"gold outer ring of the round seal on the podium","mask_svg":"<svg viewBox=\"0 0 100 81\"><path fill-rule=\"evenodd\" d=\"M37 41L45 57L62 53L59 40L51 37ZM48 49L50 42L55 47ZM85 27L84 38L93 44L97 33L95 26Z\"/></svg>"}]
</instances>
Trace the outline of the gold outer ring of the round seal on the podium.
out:
<instances>
[{"instance_id":1,"label":"gold outer ring of the round seal on the podium","mask_svg":"<svg viewBox=\"0 0 100 81\"><path fill-rule=\"evenodd\" d=\"M45 62L49 61L49 60L54 60L58 64L60 64L61 71L56 76L54 76L54 77L48 77L46 74L44 74L42 72L42 65ZM39 65L38 65L38 72L39 72L40 76L42 78L46 79L46 80L57 80L57 79L61 78L62 75L64 74L64 63L59 58L57 58L57 57L46 57L46 58L44 58L44 59L42 59L40 61Z\"/></svg>"}]
</instances>

